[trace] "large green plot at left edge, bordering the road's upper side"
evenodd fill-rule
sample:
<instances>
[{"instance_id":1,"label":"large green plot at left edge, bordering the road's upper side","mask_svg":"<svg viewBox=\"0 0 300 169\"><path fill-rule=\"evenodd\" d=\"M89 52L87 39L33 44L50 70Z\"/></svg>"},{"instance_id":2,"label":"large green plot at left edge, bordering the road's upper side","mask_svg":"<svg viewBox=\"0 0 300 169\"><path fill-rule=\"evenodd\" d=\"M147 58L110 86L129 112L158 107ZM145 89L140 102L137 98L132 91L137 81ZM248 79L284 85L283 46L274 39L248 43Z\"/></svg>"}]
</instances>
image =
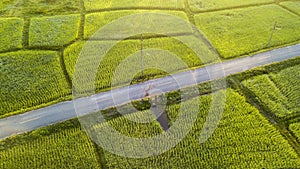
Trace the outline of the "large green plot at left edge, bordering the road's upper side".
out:
<instances>
[{"instance_id":1,"label":"large green plot at left edge, bordering the road's upper side","mask_svg":"<svg viewBox=\"0 0 300 169\"><path fill-rule=\"evenodd\" d=\"M0 117L70 93L57 52L0 54Z\"/></svg>"}]
</instances>

